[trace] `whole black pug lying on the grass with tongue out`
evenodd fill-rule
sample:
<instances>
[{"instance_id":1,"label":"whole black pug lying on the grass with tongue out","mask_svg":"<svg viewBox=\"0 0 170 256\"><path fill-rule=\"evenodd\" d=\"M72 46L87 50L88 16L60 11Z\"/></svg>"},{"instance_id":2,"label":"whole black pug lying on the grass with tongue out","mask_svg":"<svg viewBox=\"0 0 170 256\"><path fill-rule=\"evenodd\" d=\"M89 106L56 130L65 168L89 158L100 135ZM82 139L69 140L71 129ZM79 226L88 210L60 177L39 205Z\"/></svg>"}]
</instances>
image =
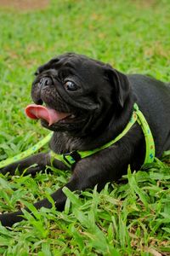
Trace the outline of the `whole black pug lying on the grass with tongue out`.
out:
<instances>
[{"instance_id":1,"label":"whole black pug lying on the grass with tongue out","mask_svg":"<svg viewBox=\"0 0 170 256\"><path fill-rule=\"evenodd\" d=\"M65 184L72 191L94 188L96 184L102 189L105 183L122 177L128 165L132 170L143 165L145 140L138 123L109 148L85 158L77 154L77 150L99 148L117 137L131 118L134 102L150 125L156 157L170 148L170 86L156 79L125 75L109 64L67 53L37 69L31 96L42 112L32 105L29 115L40 118L42 126L54 131L49 143L51 150L57 154L73 152L76 163L71 166L71 180ZM14 175L17 167L23 172L33 164L37 166L28 168L27 173L35 174L51 164L61 170L68 169L64 162L52 161L48 152L4 167L1 172ZM62 211L66 200L62 188L51 196ZM34 206L51 207L51 203L44 199ZM23 219L20 215L21 211L4 213L0 220L3 225L11 226Z\"/></svg>"}]
</instances>

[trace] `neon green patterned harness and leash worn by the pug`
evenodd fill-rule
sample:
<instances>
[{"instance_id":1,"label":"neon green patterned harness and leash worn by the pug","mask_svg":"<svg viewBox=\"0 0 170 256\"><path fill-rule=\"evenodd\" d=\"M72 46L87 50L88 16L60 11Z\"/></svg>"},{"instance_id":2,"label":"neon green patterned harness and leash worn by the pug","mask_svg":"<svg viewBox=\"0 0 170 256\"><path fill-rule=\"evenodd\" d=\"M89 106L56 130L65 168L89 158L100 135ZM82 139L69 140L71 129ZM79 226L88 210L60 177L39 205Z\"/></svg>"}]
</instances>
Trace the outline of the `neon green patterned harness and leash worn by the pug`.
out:
<instances>
[{"instance_id":1,"label":"neon green patterned harness and leash worn by the pug","mask_svg":"<svg viewBox=\"0 0 170 256\"><path fill-rule=\"evenodd\" d=\"M105 148L111 147L111 145L119 141L122 137L124 137L127 134L127 131L131 129L131 127L136 123L136 121L139 123L139 125L141 126L144 132L145 145L146 145L144 164L151 163L155 159L155 143L150 131L150 126L148 125L146 119L144 118L143 113L139 110L139 107L136 103L133 105L133 114L127 126L122 131L122 133L119 134L113 140L111 140L111 142L105 143L105 145L103 145L100 148L95 148L93 150L88 150L88 151L75 150L68 154L56 154L53 151L51 151L50 154L52 156L52 159L62 161L66 166L71 168L71 166L75 164L78 160L81 160L82 158L86 158L92 154L96 154ZM0 168L3 168L4 166L8 166L9 164L15 161L22 160L30 156L31 154L35 153L39 148L42 148L44 144L48 143L51 136L52 136L52 133L49 133L47 137L42 139L41 142L37 143L32 148L28 148L26 151L24 151L21 154L18 154L12 158L8 158L7 160L1 161Z\"/></svg>"}]
</instances>

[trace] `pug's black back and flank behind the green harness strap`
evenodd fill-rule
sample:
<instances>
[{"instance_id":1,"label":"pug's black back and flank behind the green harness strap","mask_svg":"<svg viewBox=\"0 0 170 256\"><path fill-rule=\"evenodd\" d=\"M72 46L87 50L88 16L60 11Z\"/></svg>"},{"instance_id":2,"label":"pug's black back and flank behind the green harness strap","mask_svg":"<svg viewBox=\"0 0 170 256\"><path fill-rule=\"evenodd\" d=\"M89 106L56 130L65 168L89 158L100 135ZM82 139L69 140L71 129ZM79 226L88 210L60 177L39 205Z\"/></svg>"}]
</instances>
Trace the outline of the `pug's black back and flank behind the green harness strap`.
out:
<instances>
[{"instance_id":1,"label":"pug's black back and flank behind the green harness strap","mask_svg":"<svg viewBox=\"0 0 170 256\"><path fill-rule=\"evenodd\" d=\"M148 120L156 143L156 156L170 149L170 84L144 75L129 75L139 108Z\"/></svg>"}]
</instances>

